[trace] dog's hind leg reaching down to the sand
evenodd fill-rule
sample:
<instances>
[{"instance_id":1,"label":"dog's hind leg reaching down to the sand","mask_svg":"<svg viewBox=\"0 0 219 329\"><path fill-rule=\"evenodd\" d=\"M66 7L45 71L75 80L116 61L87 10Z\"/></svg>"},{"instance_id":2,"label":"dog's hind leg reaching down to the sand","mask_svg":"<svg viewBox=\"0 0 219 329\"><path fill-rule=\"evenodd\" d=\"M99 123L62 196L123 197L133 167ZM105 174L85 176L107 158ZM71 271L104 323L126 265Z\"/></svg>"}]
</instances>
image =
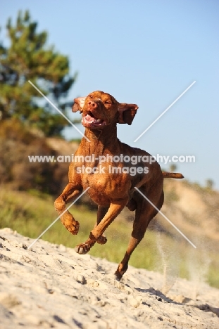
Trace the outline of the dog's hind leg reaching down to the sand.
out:
<instances>
[{"instance_id":1,"label":"dog's hind leg reaching down to the sand","mask_svg":"<svg viewBox=\"0 0 219 329\"><path fill-rule=\"evenodd\" d=\"M151 202L154 203L154 205L158 208L161 209L163 205L163 188L160 188L160 191L151 191L146 193L145 188L139 188L144 195L151 200ZM136 192L139 193L139 192ZM125 271L127 271L128 268L128 262L130 260L131 254L134 251L134 249L137 247L137 245L140 243L142 238L144 238L144 234L146 232L146 228L149 225L149 222L151 219L154 218L157 214L157 210L150 205L150 203L144 199L142 195L137 195L135 193L135 196L137 197L137 209L135 211L135 219L133 223L133 231L132 235L130 237L130 241L127 247L127 250L125 252L125 256L118 265L118 269L115 271L115 278L117 280L120 280L123 277L123 274Z\"/></svg>"}]
</instances>

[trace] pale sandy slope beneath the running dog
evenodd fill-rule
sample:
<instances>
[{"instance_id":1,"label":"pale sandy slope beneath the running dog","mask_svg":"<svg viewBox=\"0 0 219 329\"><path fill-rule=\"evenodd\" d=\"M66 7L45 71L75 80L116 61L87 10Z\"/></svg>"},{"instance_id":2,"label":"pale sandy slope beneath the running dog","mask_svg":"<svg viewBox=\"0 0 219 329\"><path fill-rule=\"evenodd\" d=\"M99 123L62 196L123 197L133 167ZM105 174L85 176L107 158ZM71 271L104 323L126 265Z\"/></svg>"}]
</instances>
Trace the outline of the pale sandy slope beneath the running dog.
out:
<instances>
[{"instance_id":1,"label":"pale sandy slope beneath the running dog","mask_svg":"<svg viewBox=\"0 0 219 329\"><path fill-rule=\"evenodd\" d=\"M0 328L219 328L219 290L0 230ZM104 247L104 246L103 246ZM134 256L133 256L134 257Z\"/></svg>"}]
</instances>

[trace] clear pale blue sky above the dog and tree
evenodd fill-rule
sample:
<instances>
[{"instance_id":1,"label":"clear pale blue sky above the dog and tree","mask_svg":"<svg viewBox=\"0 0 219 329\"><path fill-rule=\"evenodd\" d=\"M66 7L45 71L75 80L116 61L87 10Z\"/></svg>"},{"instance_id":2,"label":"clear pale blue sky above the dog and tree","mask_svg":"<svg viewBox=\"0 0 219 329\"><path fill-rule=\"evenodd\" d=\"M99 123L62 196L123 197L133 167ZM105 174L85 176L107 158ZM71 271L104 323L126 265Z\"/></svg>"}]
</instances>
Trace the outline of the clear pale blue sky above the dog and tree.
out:
<instances>
[{"instance_id":1,"label":"clear pale blue sky above the dog and tree","mask_svg":"<svg viewBox=\"0 0 219 329\"><path fill-rule=\"evenodd\" d=\"M213 179L219 190L219 1L1 0L0 6L1 26L29 9L38 31L49 32L48 44L69 56L71 71L79 72L70 99L102 90L137 103L132 126L118 128L120 140L152 155L195 155L195 163L177 163L177 170L189 181ZM73 128L66 134L80 137Z\"/></svg>"}]
</instances>

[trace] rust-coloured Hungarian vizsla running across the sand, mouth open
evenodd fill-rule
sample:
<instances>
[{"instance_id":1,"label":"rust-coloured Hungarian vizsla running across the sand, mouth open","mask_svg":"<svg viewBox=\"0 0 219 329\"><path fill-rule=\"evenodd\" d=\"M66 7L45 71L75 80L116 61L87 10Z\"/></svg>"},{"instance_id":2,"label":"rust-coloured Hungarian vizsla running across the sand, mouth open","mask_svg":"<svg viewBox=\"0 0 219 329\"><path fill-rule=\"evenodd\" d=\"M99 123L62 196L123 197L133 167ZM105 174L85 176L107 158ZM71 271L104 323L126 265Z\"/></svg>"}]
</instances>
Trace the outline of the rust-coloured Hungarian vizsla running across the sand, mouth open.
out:
<instances>
[{"instance_id":1,"label":"rust-coloured Hungarian vizsla running across the sand, mouth open","mask_svg":"<svg viewBox=\"0 0 219 329\"><path fill-rule=\"evenodd\" d=\"M120 280L127 271L130 256L144 237L149 222L163 205L163 177L183 178L182 174L163 173L149 153L121 143L117 138L117 124L132 124L138 106L118 103L103 91L89 93L86 98L75 98L73 112L82 113L85 137L69 167L69 183L56 199L58 214L66 209L83 190L98 205L96 224L85 243L75 247L79 254L89 252L94 243L106 243L104 231L126 206L135 210L135 219L125 257L115 271ZM135 189L137 187L157 209ZM79 223L70 212L61 216L65 228L77 234Z\"/></svg>"}]
</instances>

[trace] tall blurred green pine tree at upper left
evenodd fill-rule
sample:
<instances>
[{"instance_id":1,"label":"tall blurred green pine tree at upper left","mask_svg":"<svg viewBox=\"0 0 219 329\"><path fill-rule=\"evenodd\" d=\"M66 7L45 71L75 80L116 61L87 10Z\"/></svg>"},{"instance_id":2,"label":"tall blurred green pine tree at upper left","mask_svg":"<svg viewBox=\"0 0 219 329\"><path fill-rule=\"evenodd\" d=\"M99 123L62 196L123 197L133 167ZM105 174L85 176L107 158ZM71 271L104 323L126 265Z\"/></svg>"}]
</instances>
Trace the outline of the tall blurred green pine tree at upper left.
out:
<instances>
[{"instance_id":1,"label":"tall blurred green pine tree at upper left","mask_svg":"<svg viewBox=\"0 0 219 329\"><path fill-rule=\"evenodd\" d=\"M68 122L28 80L66 114L65 98L77 73L71 77L68 57L46 46L47 32L37 33L37 22L28 11L19 11L14 26L9 18L6 30L11 44L8 48L0 44L1 120L17 118L46 136L61 134Z\"/></svg>"}]
</instances>

